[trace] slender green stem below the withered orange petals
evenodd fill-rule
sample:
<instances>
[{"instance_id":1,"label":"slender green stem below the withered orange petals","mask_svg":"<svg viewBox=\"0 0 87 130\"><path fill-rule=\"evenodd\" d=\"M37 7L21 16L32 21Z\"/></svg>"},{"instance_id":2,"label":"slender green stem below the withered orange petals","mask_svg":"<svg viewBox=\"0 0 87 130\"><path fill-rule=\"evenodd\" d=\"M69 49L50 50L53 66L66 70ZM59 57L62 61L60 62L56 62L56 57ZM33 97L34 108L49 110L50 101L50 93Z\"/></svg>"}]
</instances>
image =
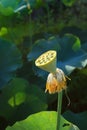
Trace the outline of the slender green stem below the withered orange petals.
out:
<instances>
[{"instance_id":1,"label":"slender green stem below the withered orange petals","mask_svg":"<svg viewBox=\"0 0 87 130\"><path fill-rule=\"evenodd\" d=\"M60 130L61 109L62 109L62 91L58 92L57 127L56 127L56 130Z\"/></svg>"}]
</instances>

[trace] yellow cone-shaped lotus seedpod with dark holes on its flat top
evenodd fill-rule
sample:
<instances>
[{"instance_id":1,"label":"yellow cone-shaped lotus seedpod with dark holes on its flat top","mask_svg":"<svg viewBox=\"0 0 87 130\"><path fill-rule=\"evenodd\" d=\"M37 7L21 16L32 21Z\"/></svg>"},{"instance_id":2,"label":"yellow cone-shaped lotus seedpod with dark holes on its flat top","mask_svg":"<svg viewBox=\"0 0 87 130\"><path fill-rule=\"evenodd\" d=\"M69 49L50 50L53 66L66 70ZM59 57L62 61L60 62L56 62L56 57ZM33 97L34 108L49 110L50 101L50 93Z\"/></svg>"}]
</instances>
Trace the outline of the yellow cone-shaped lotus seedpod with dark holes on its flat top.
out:
<instances>
[{"instance_id":1,"label":"yellow cone-shaped lotus seedpod with dark holes on its flat top","mask_svg":"<svg viewBox=\"0 0 87 130\"><path fill-rule=\"evenodd\" d=\"M50 73L56 72L56 58L57 53L54 50L47 51L39 56L36 61L35 65L45 71Z\"/></svg>"}]
</instances>

